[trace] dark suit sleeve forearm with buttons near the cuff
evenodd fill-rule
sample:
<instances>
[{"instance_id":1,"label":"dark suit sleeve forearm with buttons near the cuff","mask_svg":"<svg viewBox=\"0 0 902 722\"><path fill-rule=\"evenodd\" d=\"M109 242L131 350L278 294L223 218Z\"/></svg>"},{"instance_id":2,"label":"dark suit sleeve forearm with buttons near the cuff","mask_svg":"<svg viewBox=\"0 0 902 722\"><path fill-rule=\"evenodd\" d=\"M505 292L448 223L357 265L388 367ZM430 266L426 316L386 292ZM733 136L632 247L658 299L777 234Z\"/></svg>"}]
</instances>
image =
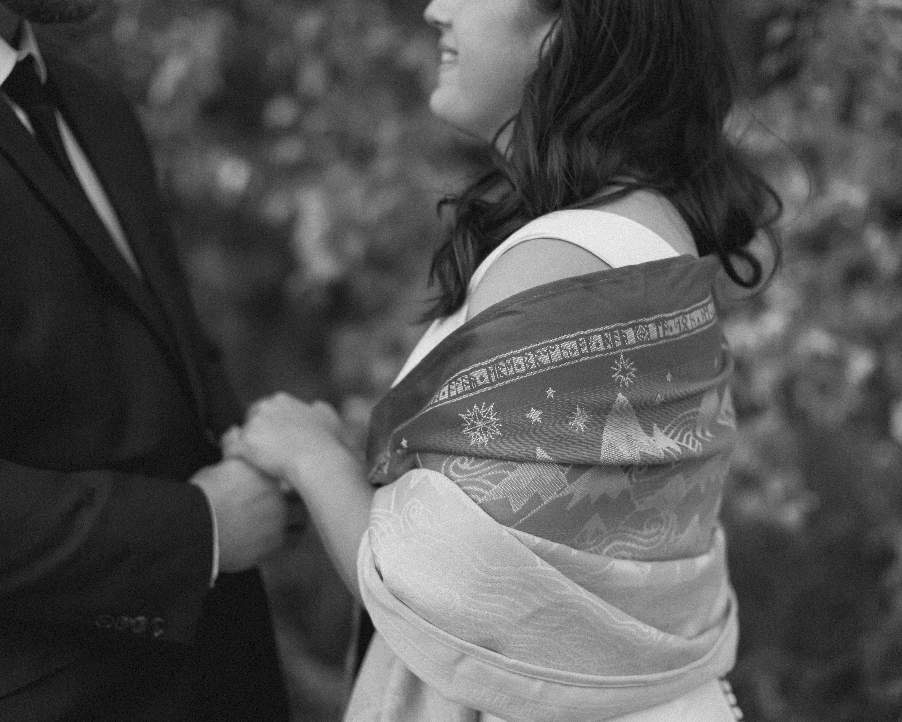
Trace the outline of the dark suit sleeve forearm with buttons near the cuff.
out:
<instances>
[{"instance_id":1,"label":"dark suit sleeve forearm with buttons near the cuff","mask_svg":"<svg viewBox=\"0 0 902 722\"><path fill-rule=\"evenodd\" d=\"M189 642L212 544L197 486L0 460L0 623Z\"/></svg>"}]
</instances>

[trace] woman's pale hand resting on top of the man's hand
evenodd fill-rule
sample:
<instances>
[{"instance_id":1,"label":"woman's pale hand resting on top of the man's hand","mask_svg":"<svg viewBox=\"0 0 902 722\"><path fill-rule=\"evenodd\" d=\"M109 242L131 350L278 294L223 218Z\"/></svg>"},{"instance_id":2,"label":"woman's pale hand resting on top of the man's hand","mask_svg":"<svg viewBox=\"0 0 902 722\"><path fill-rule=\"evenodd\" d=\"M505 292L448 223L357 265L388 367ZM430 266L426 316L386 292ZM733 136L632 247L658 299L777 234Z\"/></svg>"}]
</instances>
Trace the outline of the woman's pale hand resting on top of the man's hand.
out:
<instances>
[{"instance_id":1,"label":"woman's pale hand resting on top of the man's hand","mask_svg":"<svg viewBox=\"0 0 902 722\"><path fill-rule=\"evenodd\" d=\"M226 431L222 444L226 457L242 458L304 495L336 470L358 466L343 436L344 423L329 404L276 393L253 403L244 426Z\"/></svg>"}]
</instances>

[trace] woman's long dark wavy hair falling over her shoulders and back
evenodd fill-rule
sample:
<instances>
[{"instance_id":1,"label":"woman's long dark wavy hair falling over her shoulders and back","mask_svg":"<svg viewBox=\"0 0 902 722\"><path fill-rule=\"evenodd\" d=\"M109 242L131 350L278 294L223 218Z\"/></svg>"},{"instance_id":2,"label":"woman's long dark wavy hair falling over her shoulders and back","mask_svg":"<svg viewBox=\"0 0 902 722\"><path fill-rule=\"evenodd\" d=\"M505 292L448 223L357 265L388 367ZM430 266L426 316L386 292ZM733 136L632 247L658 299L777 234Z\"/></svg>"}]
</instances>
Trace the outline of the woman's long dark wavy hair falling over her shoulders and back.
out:
<instances>
[{"instance_id":1,"label":"woman's long dark wavy hair falling over her shoulders and back","mask_svg":"<svg viewBox=\"0 0 902 722\"><path fill-rule=\"evenodd\" d=\"M718 0L534 2L556 21L506 153L492 148L492 169L439 201L451 224L427 318L460 308L476 266L529 220L637 189L667 197L699 254L717 254L733 282L759 285L747 246L763 230L778 251L782 206L723 133L735 75Z\"/></svg>"}]
</instances>

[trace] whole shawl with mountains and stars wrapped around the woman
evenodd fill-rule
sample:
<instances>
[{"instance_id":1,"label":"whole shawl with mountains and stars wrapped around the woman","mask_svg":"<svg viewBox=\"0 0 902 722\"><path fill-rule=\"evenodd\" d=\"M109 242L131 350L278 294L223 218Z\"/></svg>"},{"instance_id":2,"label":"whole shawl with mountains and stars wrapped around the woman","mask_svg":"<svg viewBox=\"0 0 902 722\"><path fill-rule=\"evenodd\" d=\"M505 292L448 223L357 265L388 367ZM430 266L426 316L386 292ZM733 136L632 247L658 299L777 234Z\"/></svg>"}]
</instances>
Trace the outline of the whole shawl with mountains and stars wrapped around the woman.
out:
<instances>
[{"instance_id":1,"label":"whole shawl with mountains and stars wrapped around the woman","mask_svg":"<svg viewBox=\"0 0 902 722\"><path fill-rule=\"evenodd\" d=\"M679 256L520 293L376 407L358 574L377 634L346 719L610 719L732 668L716 270ZM695 542L612 544L626 496L624 518L669 514Z\"/></svg>"}]
</instances>

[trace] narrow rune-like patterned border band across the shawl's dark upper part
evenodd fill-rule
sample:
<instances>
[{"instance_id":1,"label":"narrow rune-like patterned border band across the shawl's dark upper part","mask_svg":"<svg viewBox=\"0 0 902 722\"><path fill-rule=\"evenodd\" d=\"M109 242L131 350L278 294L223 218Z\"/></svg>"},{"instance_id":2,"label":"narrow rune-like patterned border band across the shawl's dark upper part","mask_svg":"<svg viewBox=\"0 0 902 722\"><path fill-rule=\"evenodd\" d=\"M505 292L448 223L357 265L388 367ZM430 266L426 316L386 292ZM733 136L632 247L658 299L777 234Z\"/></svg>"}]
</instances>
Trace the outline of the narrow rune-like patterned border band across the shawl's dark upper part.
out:
<instances>
[{"instance_id":1,"label":"narrow rune-like patterned border band across the shawl's dark upper part","mask_svg":"<svg viewBox=\"0 0 902 722\"><path fill-rule=\"evenodd\" d=\"M686 309L542 341L458 371L420 413L550 368L691 336L713 326L716 320L714 302L708 295Z\"/></svg>"}]
</instances>

